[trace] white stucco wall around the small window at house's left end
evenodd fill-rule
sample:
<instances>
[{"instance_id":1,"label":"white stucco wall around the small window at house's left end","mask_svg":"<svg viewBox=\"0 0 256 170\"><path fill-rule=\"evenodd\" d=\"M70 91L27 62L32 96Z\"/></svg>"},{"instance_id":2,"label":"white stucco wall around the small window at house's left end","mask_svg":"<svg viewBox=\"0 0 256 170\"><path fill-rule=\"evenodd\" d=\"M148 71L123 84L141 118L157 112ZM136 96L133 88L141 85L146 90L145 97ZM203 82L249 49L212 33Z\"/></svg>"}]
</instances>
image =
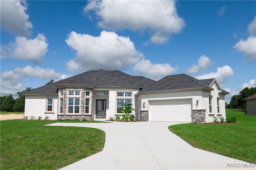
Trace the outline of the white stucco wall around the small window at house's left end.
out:
<instances>
[{"instance_id":1,"label":"white stucco wall around the small window at house's left end","mask_svg":"<svg viewBox=\"0 0 256 170\"><path fill-rule=\"evenodd\" d=\"M53 99L53 111L47 112L47 98ZM25 113L24 116L42 117L44 119L46 116L50 120L57 120L58 113L58 96L39 96L39 95L26 95L25 99Z\"/></svg>"}]
</instances>

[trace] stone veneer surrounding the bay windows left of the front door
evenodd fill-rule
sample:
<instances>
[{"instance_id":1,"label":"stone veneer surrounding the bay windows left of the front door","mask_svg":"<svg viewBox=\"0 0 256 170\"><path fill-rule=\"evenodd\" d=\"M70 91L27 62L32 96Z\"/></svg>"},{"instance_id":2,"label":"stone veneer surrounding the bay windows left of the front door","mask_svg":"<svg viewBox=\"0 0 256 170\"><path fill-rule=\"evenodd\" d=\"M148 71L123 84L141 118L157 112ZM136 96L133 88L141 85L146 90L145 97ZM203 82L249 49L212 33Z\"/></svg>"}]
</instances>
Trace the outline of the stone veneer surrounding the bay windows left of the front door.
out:
<instances>
[{"instance_id":1,"label":"stone veneer surrounding the bay windows left of the front door","mask_svg":"<svg viewBox=\"0 0 256 170\"><path fill-rule=\"evenodd\" d=\"M68 88L68 89L82 89L81 90L81 108L80 108L80 112L82 115L66 115L67 114L67 101L68 101L68 90L66 88L60 88L59 90L63 90L63 115L57 115L57 119L70 119L70 120L75 120L75 119L79 119L79 120L92 120L92 101L93 101L93 96L92 96L92 89L91 88L85 88L85 87L72 87L72 88ZM90 106L91 106L91 114L86 114L85 115L85 99L86 99L86 91L90 91ZM58 100L59 102L59 100ZM59 105L58 105L59 106ZM59 109L59 108L58 108ZM72 113L71 113L72 114Z\"/></svg>"}]
</instances>

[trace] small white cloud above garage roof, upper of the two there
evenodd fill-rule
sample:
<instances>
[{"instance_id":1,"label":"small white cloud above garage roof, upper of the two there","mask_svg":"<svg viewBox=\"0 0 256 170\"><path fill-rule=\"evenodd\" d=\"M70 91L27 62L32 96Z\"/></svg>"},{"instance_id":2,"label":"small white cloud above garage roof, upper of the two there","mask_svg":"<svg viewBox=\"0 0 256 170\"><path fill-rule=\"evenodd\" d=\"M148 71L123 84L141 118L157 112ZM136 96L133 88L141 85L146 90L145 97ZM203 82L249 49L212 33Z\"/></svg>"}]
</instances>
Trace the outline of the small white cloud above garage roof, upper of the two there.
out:
<instances>
[{"instance_id":1,"label":"small white cloud above garage roof, upper of the two there","mask_svg":"<svg viewBox=\"0 0 256 170\"><path fill-rule=\"evenodd\" d=\"M202 55L198 59L197 65L192 65L190 68L186 69L189 74L196 74L199 73L202 70L206 70L209 67L212 66L212 61L209 59L209 57Z\"/></svg>"}]
</instances>

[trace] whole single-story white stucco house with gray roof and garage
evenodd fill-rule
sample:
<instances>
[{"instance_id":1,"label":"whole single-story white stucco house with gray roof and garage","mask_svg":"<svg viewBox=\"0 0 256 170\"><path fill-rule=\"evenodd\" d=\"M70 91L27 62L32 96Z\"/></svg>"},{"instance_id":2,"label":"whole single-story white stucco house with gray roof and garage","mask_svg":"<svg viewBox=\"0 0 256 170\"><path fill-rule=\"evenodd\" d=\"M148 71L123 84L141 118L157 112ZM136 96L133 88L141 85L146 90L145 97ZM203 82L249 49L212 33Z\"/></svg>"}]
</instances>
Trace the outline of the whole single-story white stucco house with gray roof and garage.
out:
<instances>
[{"instance_id":1,"label":"whole single-story white stucco house with gray roof and garage","mask_svg":"<svg viewBox=\"0 0 256 170\"><path fill-rule=\"evenodd\" d=\"M225 95L216 79L186 74L159 81L118 70L87 71L23 93L25 116L107 120L132 104L137 121L212 122L226 117Z\"/></svg>"}]
</instances>

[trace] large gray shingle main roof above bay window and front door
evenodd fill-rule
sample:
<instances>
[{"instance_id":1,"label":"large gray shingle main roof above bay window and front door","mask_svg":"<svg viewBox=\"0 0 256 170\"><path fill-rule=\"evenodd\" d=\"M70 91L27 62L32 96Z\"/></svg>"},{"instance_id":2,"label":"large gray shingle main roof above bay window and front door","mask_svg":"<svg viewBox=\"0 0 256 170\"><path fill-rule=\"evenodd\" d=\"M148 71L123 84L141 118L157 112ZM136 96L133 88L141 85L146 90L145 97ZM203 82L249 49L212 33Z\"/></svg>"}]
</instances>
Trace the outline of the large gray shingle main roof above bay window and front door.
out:
<instances>
[{"instance_id":1,"label":"large gray shingle main roof above bay window and front door","mask_svg":"<svg viewBox=\"0 0 256 170\"><path fill-rule=\"evenodd\" d=\"M49 85L30 90L23 95L58 95L59 85L88 85L93 87L146 87L156 81L143 76L132 76L122 71L91 70Z\"/></svg>"}]
</instances>

